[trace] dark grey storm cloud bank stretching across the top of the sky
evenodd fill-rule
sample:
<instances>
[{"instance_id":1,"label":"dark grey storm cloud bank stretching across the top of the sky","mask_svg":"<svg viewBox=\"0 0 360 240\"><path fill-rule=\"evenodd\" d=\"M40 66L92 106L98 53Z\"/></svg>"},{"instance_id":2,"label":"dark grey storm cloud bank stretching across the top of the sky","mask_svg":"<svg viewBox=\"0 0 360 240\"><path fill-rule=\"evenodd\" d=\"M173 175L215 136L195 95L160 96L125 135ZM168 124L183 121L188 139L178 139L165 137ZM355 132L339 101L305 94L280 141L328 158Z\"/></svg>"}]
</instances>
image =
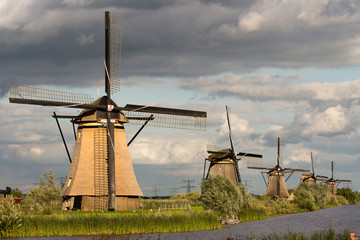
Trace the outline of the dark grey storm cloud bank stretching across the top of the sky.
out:
<instances>
[{"instance_id":1,"label":"dark grey storm cloud bank stretching across the top of the sky","mask_svg":"<svg viewBox=\"0 0 360 240\"><path fill-rule=\"evenodd\" d=\"M66 0L8 8L0 19L2 95L13 80L102 79L105 10L125 14L124 81L357 64L358 2Z\"/></svg>"}]
</instances>

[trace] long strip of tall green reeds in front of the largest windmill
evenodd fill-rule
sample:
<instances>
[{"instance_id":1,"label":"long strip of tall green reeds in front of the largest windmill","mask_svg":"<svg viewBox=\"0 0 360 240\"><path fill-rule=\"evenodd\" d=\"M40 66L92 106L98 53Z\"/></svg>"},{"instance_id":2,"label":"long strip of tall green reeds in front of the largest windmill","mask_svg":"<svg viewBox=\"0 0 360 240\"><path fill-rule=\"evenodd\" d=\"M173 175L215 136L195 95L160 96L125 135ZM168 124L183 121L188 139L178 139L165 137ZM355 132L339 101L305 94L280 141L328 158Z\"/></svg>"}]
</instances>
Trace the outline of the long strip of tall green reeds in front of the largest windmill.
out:
<instances>
[{"instance_id":1,"label":"long strip of tall green reeds in front of the largest windmill","mask_svg":"<svg viewBox=\"0 0 360 240\"><path fill-rule=\"evenodd\" d=\"M22 226L7 237L146 234L219 228L218 216L211 212L25 215Z\"/></svg>"}]
</instances>

